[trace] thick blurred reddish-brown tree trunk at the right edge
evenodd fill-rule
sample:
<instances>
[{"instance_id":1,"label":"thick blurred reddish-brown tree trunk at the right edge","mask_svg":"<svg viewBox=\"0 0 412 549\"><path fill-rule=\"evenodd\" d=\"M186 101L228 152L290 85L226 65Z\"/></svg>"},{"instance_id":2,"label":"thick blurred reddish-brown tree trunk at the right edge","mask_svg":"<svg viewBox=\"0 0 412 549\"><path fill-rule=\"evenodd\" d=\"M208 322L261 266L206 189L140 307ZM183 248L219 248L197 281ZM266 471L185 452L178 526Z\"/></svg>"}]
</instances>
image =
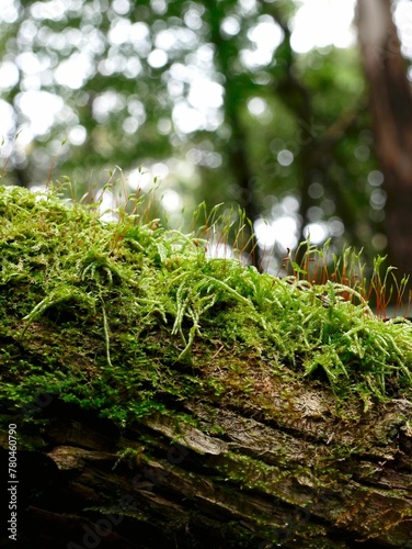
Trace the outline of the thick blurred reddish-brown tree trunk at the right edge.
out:
<instances>
[{"instance_id":1,"label":"thick blurred reddish-brown tree trunk at the right edge","mask_svg":"<svg viewBox=\"0 0 412 549\"><path fill-rule=\"evenodd\" d=\"M358 0L357 26L388 194L390 259L400 276L412 274L412 93L390 0Z\"/></svg>"}]
</instances>

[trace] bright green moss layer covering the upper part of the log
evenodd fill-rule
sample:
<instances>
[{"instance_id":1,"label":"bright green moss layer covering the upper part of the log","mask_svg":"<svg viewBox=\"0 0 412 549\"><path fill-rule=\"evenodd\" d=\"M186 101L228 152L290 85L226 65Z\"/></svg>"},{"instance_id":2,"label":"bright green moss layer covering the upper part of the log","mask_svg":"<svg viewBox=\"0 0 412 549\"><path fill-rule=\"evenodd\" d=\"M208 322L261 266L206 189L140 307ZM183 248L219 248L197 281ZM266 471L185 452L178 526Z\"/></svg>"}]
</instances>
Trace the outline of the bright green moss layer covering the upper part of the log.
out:
<instances>
[{"instance_id":1,"label":"bright green moss layer covering the upper part of the log","mask_svg":"<svg viewBox=\"0 0 412 549\"><path fill-rule=\"evenodd\" d=\"M270 415L276 383L365 407L411 396L411 324L382 322L364 282L344 283L347 254L320 283L291 258L274 277L136 212L103 223L52 187L0 187L0 219L3 403L43 391L124 425L194 396Z\"/></svg>"}]
</instances>

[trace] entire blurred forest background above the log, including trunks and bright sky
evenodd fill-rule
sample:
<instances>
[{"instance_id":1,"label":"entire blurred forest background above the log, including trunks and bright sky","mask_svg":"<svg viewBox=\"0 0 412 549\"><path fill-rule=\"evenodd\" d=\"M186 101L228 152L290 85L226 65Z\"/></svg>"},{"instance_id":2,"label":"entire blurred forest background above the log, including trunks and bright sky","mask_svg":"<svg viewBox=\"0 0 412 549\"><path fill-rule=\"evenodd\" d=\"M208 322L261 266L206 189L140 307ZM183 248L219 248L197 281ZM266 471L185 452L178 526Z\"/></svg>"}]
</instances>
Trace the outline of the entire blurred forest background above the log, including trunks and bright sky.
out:
<instances>
[{"instance_id":1,"label":"entire blurred forest background above the log, including trunks and bright sky","mask_svg":"<svg viewBox=\"0 0 412 549\"><path fill-rule=\"evenodd\" d=\"M272 272L310 235L412 273L411 4L2 0L2 182L156 177L173 227L244 209Z\"/></svg>"}]
</instances>

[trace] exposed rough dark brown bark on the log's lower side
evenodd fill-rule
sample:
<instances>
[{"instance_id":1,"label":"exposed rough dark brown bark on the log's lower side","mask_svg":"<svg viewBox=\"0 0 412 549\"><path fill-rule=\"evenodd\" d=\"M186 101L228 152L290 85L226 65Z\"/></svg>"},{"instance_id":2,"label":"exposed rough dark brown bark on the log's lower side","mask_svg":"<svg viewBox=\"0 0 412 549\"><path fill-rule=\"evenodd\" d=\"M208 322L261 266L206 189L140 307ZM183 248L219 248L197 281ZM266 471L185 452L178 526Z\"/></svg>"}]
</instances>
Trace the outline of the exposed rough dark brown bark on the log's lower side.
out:
<instances>
[{"instance_id":1,"label":"exposed rough dark brown bark on the log's lower side","mask_svg":"<svg viewBox=\"0 0 412 549\"><path fill-rule=\"evenodd\" d=\"M10 547L412 548L411 402L342 421L330 393L278 389L271 423L187 403L202 430L154 416L121 432L52 399L47 428L20 433L37 449L18 455Z\"/></svg>"}]
</instances>

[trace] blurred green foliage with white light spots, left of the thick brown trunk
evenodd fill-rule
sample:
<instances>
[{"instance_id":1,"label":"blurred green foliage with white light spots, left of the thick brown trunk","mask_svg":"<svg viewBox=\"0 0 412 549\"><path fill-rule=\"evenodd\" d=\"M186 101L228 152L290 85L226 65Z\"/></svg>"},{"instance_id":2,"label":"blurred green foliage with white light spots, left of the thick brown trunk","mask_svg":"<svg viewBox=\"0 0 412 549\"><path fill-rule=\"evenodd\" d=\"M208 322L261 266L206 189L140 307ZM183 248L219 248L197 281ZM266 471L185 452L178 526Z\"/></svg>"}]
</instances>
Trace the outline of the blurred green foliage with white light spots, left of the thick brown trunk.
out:
<instances>
[{"instance_id":1,"label":"blurred green foliage with white light spots, left of the thick brown trunk","mask_svg":"<svg viewBox=\"0 0 412 549\"><path fill-rule=\"evenodd\" d=\"M39 186L58 167L79 200L103 187L112 158L134 175L141 164L162 163L171 175L165 184L186 211L207 198L209 208L237 202L253 221L273 219L293 195L306 223L314 209L329 234L342 237L343 223L345 242L375 254L370 240L384 232L384 212L370 206L379 189L368 175L377 163L356 48L294 52L296 0L118 5L81 0L52 13L42 2L10 0L10 21L0 19L4 74L12 75L2 88L11 120L3 177ZM230 18L239 29L228 34ZM279 44L248 63L262 23L281 33ZM153 53L164 63L153 64ZM221 104L215 99L198 113L192 94L205 82L221 87ZM12 143L37 112L26 105L42 98L49 124L38 124L30 147L27 137ZM179 109L193 102L185 120L201 122L182 128ZM284 150L293 155L286 165L278 159Z\"/></svg>"}]
</instances>

